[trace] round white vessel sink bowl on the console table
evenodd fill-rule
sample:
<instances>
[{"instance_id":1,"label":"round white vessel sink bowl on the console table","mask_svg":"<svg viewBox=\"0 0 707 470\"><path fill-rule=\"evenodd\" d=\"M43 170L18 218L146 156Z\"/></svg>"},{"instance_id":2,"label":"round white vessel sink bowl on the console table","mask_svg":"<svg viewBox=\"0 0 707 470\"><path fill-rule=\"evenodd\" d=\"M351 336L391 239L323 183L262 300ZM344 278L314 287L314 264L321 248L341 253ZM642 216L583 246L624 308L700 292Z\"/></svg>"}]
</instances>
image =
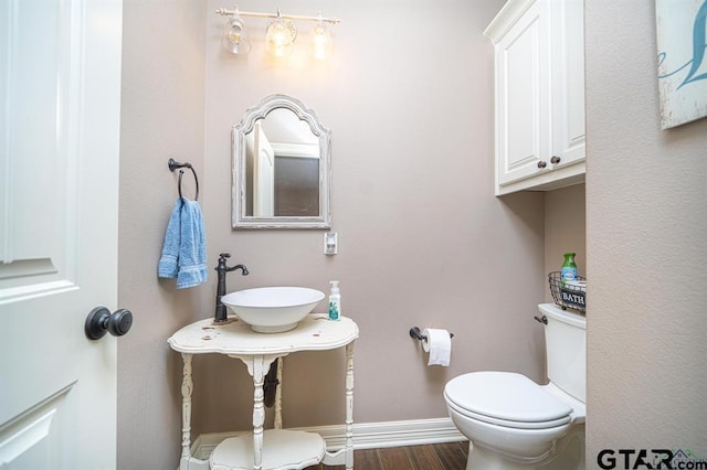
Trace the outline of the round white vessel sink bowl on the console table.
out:
<instances>
[{"instance_id":1,"label":"round white vessel sink bowl on the console table","mask_svg":"<svg viewBox=\"0 0 707 470\"><path fill-rule=\"evenodd\" d=\"M306 287L258 287L231 292L221 302L258 333L281 333L297 327L324 299Z\"/></svg>"}]
</instances>

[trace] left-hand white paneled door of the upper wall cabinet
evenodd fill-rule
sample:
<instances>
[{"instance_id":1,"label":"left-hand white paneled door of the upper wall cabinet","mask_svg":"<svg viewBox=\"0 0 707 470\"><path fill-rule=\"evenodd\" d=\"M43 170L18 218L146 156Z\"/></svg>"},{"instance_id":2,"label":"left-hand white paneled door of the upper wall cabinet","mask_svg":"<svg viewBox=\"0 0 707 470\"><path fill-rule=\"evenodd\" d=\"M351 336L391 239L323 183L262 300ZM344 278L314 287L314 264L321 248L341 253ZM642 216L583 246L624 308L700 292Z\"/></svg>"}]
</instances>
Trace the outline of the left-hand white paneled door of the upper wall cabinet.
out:
<instances>
[{"instance_id":1,"label":"left-hand white paneled door of the upper wall cabinet","mask_svg":"<svg viewBox=\"0 0 707 470\"><path fill-rule=\"evenodd\" d=\"M549 49L540 7L531 4L496 44L496 181L542 171L550 152Z\"/></svg>"}]
</instances>

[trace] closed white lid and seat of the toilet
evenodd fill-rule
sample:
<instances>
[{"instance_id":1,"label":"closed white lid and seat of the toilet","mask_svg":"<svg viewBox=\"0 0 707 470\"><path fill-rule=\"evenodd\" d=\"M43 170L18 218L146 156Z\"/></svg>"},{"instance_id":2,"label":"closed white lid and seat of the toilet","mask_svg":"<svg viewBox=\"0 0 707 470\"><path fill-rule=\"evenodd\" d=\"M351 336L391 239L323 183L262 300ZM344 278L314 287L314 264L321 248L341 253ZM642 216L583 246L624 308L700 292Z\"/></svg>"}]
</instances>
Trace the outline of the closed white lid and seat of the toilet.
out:
<instances>
[{"instance_id":1,"label":"closed white lid and seat of the toilet","mask_svg":"<svg viewBox=\"0 0 707 470\"><path fill-rule=\"evenodd\" d=\"M572 407L521 374L472 372L447 382L444 394L474 414L518 423L544 423L569 417Z\"/></svg>"}]
</instances>

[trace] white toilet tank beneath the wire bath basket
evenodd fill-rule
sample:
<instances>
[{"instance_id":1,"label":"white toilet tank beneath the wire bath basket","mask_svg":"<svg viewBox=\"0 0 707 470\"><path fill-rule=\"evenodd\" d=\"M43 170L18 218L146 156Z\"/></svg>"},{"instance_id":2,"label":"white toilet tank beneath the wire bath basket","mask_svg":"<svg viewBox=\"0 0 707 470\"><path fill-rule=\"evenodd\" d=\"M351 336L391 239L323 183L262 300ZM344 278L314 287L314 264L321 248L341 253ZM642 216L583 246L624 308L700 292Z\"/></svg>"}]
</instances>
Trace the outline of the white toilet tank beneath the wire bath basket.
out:
<instances>
[{"instance_id":1,"label":"white toilet tank beneath the wire bath basket","mask_svg":"<svg viewBox=\"0 0 707 470\"><path fill-rule=\"evenodd\" d=\"M555 303L540 303L547 318L545 343L548 378L582 403L587 400L587 318Z\"/></svg>"}]
</instances>

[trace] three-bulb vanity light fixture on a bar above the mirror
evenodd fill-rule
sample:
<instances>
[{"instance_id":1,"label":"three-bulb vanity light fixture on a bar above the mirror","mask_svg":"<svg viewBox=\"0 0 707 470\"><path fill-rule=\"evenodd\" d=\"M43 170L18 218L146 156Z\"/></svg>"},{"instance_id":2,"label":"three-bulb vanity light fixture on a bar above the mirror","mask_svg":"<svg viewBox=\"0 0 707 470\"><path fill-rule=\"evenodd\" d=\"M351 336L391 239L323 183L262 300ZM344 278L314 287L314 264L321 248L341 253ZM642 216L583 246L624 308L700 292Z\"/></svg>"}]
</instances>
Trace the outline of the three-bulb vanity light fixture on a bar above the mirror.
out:
<instances>
[{"instance_id":1,"label":"three-bulb vanity light fixture on a bar above the mirror","mask_svg":"<svg viewBox=\"0 0 707 470\"><path fill-rule=\"evenodd\" d=\"M275 57L288 55L297 38L295 21L314 21L316 24L309 35L312 38L313 55L315 58L325 60L331 55L334 43L328 24L337 24L336 18L326 18L319 13L316 17L303 17L296 14L283 14L279 9L276 13L260 13L253 11L240 11L238 7L233 10L221 8L217 14L229 17L223 32L222 44L226 51L233 54L247 54L251 52L251 42L245 30L242 18L268 18L272 19L265 33L265 45L267 51ZM328 23L328 24L327 24Z\"/></svg>"}]
</instances>

